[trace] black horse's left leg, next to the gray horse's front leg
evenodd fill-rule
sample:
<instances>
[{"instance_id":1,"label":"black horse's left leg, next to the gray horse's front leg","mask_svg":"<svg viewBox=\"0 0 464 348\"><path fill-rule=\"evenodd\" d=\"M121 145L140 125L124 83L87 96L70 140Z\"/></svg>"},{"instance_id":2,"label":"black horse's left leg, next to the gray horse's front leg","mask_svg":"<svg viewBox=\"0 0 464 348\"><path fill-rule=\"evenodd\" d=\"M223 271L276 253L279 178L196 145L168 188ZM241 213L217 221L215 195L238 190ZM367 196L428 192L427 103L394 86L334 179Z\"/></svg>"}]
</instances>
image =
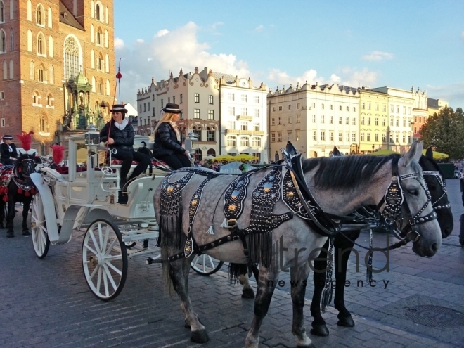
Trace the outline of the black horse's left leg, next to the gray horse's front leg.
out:
<instances>
[{"instance_id":1,"label":"black horse's left leg, next to the gray horse's front leg","mask_svg":"<svg viewBox=\"0 0 464 348\"><path fill-rule=\"evenodd\" d=\"M327 240L326 244L323 246L323 250L319 257L314 260L314 274L313 274L313 281L314 281L314 293L313 293L313 300L311 302L311 316L313 316L314 320L311 323L313 327L311 329L311 333L316 336L327 336L329 334L329 330L326 326L326 321L322 318L321 314L321 296L322 292L326 286L326 269L327 269L327 250L329 247L329 240Z\"/></svg>"}]
</instances>

